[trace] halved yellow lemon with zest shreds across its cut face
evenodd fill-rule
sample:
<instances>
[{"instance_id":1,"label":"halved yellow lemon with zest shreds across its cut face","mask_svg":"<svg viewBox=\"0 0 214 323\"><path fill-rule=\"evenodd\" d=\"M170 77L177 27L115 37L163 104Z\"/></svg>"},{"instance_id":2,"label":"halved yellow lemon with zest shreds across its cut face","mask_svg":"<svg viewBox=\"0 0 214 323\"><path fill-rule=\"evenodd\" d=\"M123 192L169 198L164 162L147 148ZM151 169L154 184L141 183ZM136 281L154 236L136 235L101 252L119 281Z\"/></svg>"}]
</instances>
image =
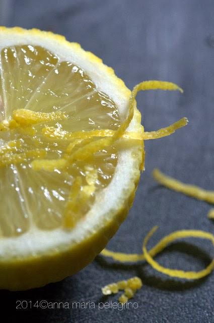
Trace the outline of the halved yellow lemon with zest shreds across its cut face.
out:
<instances>
[{"instance_id":1,"label":"halved yellow lemon with zest shreds across its cut face","mask_svg":"<svg viewBox=\"0 0 214 323\"><path fill-rule=\"evenodd\" d=\"M136 93L179 88L145 82L131 95L100 59L50 32L1 27L0 44L0 288L24 290L78 272L105 247L144 166Z\"/></svg>"}]
</instances>

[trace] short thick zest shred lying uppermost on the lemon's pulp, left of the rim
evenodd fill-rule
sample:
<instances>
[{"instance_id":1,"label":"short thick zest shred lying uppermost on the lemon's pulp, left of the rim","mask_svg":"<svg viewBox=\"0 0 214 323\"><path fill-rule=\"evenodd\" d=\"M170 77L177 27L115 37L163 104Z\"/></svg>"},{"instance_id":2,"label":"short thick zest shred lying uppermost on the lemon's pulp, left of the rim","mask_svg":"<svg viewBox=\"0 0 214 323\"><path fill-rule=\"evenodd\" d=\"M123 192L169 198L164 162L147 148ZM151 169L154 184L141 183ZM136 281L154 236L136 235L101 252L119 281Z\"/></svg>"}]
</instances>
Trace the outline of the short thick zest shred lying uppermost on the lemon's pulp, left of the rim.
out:
<instances>
[{"instance_id":1,"label":"short thick zest shred lying uppermost on the lemon's pulp, left of the rim","mask_svg":"<svg viewBox=\"0 0 214 323\"><path fill-rule=\"evenodd\" d=\"M35 112L27 109L17 109L13 112L13 119L21 126L29 126L44 121L61 121L68 119L65 112Z\"/></svg>"}]
</instances>

